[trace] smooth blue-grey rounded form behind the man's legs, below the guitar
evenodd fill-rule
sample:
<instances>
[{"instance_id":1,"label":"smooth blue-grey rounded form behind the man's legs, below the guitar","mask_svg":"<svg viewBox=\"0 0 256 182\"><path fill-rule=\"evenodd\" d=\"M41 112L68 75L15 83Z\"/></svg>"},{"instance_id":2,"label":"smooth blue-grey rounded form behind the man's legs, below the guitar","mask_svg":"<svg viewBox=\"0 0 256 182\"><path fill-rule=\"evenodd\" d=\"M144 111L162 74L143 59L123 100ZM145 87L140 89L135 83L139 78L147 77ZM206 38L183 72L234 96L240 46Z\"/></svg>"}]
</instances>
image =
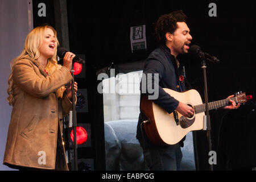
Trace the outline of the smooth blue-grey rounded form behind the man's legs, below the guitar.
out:
<instances>
[{"instance_id":1,"label":"smooth blue-grey rounded form behind the man's legs, below the guitar","mask_svg":"<svg viewBox=\"0 0 256 182\"><path fill-rule=\"evenodd\" d=\"M147 171L143 151L136 139L137 122L105 122L106 170L110 171ZM181 167L184 171L195 171L192 133L187 134L184 142Z\"/></svg>"}]
</instances>

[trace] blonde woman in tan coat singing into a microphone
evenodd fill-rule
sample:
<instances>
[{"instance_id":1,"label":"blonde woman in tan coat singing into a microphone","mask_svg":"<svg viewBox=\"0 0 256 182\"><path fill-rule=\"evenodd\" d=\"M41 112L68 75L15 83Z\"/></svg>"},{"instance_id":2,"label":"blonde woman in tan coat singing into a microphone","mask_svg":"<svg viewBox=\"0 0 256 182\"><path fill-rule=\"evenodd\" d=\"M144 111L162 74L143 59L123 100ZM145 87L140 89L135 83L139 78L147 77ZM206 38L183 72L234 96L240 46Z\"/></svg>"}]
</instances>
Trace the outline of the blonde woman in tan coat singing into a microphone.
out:
<instances>
[{"instance_id":1,"label":"blonde woman in tan coat singing into a microphone","mask_svg":"<svg viewBox=\"0 0 256 182\"><path fill-rule=\"evenodd\" d=\"M72 109L75 55L67 52L63 66L58 65L58 44L54 28L36 27L12 61L7 100L13 111L3 159L11 168L68 170L61 133L62 119Z\"/></svg>"}]
</instances>

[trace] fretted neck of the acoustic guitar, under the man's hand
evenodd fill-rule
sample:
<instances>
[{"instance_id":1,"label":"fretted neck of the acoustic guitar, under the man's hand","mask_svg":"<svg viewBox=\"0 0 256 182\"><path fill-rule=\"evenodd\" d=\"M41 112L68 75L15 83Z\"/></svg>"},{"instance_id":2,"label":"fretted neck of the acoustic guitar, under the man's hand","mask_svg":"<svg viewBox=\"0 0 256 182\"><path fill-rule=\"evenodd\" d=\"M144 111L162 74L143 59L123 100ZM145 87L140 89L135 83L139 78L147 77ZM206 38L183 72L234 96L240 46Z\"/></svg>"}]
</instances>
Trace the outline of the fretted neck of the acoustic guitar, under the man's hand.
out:
<instances>
[{"instance_id":1,"label":"fretted neck of the acoustic guitar, under the man's hand","mask_svg":"<svg viewBox=\"0 0 256 182\"><path fill-rule=\"evenodd\" d=\"M237 97L227 98L227 99L220 100L220 101L209 102L208 103L209 110L218 109L220 107L228 106L230 104L229 100L233 100L236 103L238 102ZM202 113L202 112L205 112L205 111L206 111L205 110L205 104L200 104L200 105L195 106L196 114L197 113Z\"/></svg>"}]
</instances>

